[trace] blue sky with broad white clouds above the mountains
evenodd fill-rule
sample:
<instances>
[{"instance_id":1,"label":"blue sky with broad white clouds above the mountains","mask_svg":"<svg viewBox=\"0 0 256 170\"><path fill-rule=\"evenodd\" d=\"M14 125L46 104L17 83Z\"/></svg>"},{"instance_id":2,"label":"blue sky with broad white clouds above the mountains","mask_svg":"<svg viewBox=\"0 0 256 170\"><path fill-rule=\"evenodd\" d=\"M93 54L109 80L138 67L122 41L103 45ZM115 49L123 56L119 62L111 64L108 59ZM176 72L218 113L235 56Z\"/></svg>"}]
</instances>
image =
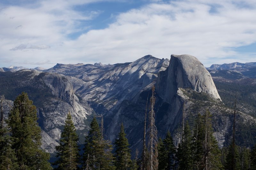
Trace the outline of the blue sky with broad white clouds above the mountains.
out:
<instances>
[{"instance_id":1,"label":"blue sky with broad white clouds above the mountains","mask_svg":"<svg viewBox=\"0 0 256 170\"><path fill-rule=\"evenodd\" d=\"M255 0L1 0L0 67L256 62Z\"/></svg>"}]
</instances>

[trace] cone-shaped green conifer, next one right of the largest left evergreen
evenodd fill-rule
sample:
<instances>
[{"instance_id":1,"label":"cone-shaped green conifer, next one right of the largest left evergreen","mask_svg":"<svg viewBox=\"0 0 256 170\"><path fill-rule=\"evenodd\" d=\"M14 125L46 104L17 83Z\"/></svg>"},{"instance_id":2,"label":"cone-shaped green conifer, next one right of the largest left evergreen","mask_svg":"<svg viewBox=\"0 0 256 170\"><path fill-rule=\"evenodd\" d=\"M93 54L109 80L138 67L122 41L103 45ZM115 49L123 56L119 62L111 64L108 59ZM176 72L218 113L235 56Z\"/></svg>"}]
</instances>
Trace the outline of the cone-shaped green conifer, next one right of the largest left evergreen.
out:
<instances>
[{"instance_id":1,"label":"cone-shaped green conifer, next one right of the largest left evergreen","mask_svg":"<svg viewBox=\"0 0 256 170\"><path fill-rule=\"evenodd\" d=\"M76 128L72 121L72 116L70 112L68 112L63 132L60 135L60 145L55 147L57 151L56 157L59 158L54 163L54 165L58 166L56 169L77 169L80 159L77 144L78 140L79 138L76 134Z\"/></svg>"}]
</instances>

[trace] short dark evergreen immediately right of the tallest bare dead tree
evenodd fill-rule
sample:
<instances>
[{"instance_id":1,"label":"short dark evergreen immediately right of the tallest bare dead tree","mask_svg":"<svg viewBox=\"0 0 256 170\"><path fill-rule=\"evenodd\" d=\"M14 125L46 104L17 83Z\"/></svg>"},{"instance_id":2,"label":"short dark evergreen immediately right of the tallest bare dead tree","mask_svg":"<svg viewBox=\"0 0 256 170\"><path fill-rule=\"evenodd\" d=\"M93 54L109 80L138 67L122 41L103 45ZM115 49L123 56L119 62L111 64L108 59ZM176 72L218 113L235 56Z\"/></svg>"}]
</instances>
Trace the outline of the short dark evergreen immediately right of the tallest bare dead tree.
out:
<instances>
[{"instance_id":1,"label":"short dark evergreen immediately right of the tallest bare dead tree","mask_svg":"<svg viewBox=\"0 0 256 170\"><path fill-rule=\"evenodd\" d=\"M171 136L171 133L168 131L166 134L166 137L164 138L164 141L159 143L159 170L170 170L174 169L175 167L175 153L176 149L173 144L173 139Z\"/></svg>"}]
</instances>

